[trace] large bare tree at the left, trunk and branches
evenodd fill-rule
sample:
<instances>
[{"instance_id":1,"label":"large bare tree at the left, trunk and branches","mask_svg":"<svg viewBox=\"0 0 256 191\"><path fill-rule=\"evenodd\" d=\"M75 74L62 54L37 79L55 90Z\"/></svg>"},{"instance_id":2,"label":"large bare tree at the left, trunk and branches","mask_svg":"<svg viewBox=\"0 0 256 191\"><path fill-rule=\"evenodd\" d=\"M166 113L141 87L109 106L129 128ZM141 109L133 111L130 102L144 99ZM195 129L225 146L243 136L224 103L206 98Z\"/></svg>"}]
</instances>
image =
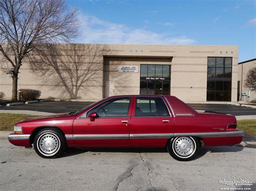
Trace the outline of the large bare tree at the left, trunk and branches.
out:
<instances>
[{"instance_id":1,"label":"large bare tree at the left, trunk and branches","mask_svg":"<svg viewBox=\"0 0 256 191\"><path fill-rule=\"evenodd\" d=\"M42 43L69 41L79 34L78 25L76 11L64 0L0 0L2 69L12 77L12 100L28 53Z\"/></svg>"}]
</instances>

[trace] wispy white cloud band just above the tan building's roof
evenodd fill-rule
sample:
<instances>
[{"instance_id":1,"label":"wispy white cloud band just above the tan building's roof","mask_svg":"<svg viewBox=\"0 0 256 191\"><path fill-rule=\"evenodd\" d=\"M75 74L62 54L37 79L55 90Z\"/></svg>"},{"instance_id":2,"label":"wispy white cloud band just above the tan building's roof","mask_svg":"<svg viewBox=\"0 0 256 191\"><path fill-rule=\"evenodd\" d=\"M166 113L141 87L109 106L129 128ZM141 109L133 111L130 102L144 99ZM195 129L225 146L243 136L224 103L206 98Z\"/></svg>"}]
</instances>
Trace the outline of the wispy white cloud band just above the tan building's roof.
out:
<instances>
[{"instance_id":1,"label":"wispy white cloud band just above the tan building's roof","mask_svg":"<svg viewBox=\"0 0 256 191\"><path fill-rule=\"evenodd\" d=\"M186 36L170 37L150 30L130 29L129 27L106 22L95 16L80 14L82 36L79 43L100 44L193 44L194 39Z\"/></svg>"}]
</instances>

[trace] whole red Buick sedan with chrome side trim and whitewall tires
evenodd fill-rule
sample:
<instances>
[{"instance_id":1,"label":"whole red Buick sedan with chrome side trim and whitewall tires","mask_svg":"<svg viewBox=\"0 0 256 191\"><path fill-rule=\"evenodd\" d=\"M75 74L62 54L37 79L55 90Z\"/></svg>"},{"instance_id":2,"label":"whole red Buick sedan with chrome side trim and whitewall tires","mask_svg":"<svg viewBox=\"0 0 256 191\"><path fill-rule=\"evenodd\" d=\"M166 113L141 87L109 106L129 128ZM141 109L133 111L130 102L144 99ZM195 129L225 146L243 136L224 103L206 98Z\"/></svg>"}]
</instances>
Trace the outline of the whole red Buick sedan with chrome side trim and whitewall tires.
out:
<instances>
[{"instance_id":1,"label":"whole red Buick sedan with chrome side trim and whitewall tires","mask_svg":"<svg viewBox=\"0 0 256 191\"><path fill-rule=\"evenodd\" d=\"M203 113L174 96L124 95L104 98L66 114L18 122L10 143L56 158L66 147L166 147L173 158L191 160L200 146L234 145L244 132L234 116Z\"/></svg>"}]
</instances>

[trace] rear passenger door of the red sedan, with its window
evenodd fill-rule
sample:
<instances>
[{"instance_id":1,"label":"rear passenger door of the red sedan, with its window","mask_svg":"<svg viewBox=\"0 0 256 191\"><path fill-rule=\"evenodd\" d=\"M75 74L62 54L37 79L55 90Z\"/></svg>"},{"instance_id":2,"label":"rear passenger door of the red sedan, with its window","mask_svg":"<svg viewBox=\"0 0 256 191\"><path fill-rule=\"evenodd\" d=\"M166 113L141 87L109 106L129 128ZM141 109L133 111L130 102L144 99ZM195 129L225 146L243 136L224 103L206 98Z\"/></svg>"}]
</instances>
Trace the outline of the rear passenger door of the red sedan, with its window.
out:
<instances>
[{"instance_id":1,"label":"rear passenger door of the red sedan, with its window","mask_svg":"<svg viewBox=\"0 0 256 191\"><path fill-rule=\"evenodd\" d=\"M174 120L163 97L134 97L133 108L131 146L165 146L174 135Z\"/></svg>"}]
</instances>

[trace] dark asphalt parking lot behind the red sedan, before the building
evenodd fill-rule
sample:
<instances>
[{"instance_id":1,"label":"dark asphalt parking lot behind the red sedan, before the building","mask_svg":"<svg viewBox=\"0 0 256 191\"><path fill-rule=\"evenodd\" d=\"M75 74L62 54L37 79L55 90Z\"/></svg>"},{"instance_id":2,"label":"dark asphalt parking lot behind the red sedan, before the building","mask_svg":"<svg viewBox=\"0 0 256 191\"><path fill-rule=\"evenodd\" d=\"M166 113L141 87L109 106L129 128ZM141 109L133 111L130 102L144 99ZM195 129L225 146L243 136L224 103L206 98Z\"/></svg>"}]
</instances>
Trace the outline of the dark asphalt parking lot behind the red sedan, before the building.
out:
<instances>
[{"instance_id":1,"label":"dark asphalt parking lot behind the red sedan, before the building","mask_svg":"<svg viewBox=\"0 0 256 191\"><path fill-rule=\"evenodd\" d=\"M32 103L24 105L15 105L11 107L1 107L0 110L32 110L32 111L43 111L51 113L62 113L77 111L91 104L92 102L43 102L43 103ZM237 105L228 104L189 104L196 110L207 110L214 112L221 112L224 114L232 114L235 116L241 115L256 115L255 108L241 107Z\"/></svg>"}]
</instances>

